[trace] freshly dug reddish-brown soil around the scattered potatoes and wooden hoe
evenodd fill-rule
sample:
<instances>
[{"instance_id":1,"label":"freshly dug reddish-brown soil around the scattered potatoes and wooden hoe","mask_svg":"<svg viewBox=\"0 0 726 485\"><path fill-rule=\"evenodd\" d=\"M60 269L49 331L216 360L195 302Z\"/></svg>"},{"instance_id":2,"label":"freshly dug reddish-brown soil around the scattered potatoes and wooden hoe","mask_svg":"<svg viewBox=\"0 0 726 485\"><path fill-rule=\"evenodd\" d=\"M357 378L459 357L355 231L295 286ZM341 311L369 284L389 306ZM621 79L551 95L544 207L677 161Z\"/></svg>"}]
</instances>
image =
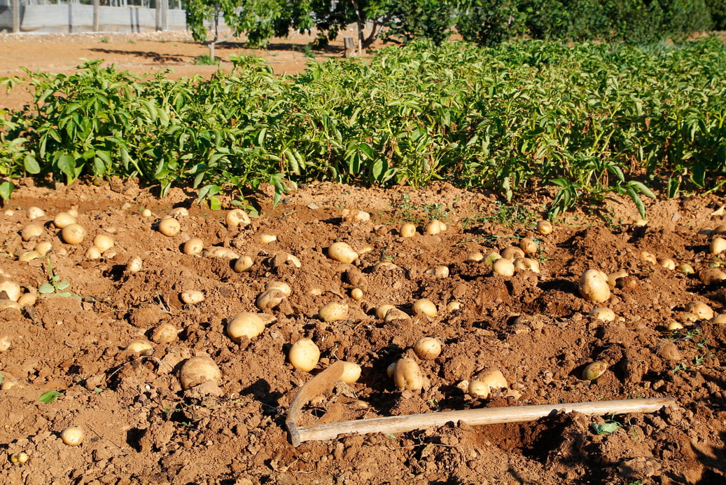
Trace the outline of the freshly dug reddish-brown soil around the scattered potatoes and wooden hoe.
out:
<instances>
[{"instance_id":1,"label":"freshly dug reddish-brown soil around the scattered potatoes and wooden hoe","mask_svg":"<svg viewBox=\"0 0 726 485\"><path fill-rule=\"evenodd\" d=\"M86 45L78 39L68 45ZM10 41L27 44L29 52L44 40ZM166 45L155 47L166 52L160 49ZM65 64L57 57L60 71ZM726 325L687 308L704 302L725 312L722 281L702 281L706 270L723 263L709 252L711 231L726 222L722 195L648 201L645 224L630 201L607 199L568 213L547 236L534 230L551 201L547 193L507 206L446 183L418 191L314 183L277 207L271 201L269 193L252 199L257 217L246 227L227 228L224 211L195 204L195 194L181 188L159 199L155 188L134 180L20 181L0 215L0 270L37 300L20 309L0 302L9 307L0 310L0 345L2 337L9 340L0 353L1 483L726 482ZM44 233L23 241L30 207L44 209L35 221ZM176 207L189 215L177 216L179 234L163 236L160 217ZM63 243L52 225L58 212L70 209L77 209L87 231L76 246ZM152 216L143 217L142 209ZM343 209L365 211L370 220L345 220ZM426 235L423 226L434 217L446 222L446 231ZM405 221L417 224L415 236L399 236ZM91 260L86 251L99 234L115 245ZM263 243L261 235L277 239ZM538 244L532 257L539 273L498 276L486 262L471 260L473 253L498 252L526 236ZM234 260L184 254L182 245L192 237L252 257L253 268L235 273ZM52 243L47 257L18 259L38 241ZM359 258L331 260L333 241L348 242ZM653 264L643 252L688 263L696 273ZM298 258L299 268L287 254ZM127 267L135 256L142 258L138 272ZM448 276L436 273L438 266ZM627 276L616 281L608 300L590 302L578 290L589 268ZM57 286L68 287L38 294L52 275ZM285 281L293 292L260 310L256 300L269 281ZM362 289L360 300L350 296L354 288ZM205 300L185 304L180 295L186 290L203 292ZM435 316L412 309L420 298L436 305ZM318 310L333 300L348 305L347 315L321 321ZM447 308L453 301L459 309ZM382 321L375 309L383 303L406 315ZM605 306L615 313L613 321L590 315ZM225 326L241 312L264 312L272 321L258 337L234 342ZM674 321L683 328L669 330ZM160 324L176 329L171 342L155 332ZM443 344L433 360L412 350L425 336ZM303 337L321 351L311 372L287 361L290 345ZM139 339L150 340L152 350L126 350ZM194 356L210 357L221 380L182 389L179 370ZM401 357L420 366L423 389L393 385L386 369ZM629 398L674 398L677 408L605 416L555 412L496 425L449 422L294 447L285 420L295 394L338 360L360 364L361 377L317 393L297 425ZM582 379L584 366L594 361L607 370L592 382ZM499 369L507 387L487 398L470 396L467 382L483 369ZM61 395L41 402L48 391ZM83 429L79 446L63 444L60 433L68 426ZM28 461L12 462L20 452Z\"/></svg>"}]
</instances>

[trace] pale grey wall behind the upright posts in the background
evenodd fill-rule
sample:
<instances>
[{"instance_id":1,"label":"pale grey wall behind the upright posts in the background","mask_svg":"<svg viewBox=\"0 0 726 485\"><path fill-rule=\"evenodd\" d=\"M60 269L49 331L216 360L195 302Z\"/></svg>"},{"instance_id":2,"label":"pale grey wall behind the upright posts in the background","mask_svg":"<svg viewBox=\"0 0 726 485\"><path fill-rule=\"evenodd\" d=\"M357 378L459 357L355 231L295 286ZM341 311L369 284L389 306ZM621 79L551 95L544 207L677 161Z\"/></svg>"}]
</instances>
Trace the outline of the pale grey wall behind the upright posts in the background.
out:
<instances>
[{"instance_id":1,"label":"pale grey wall behind the upright posts in the background","mask_svg":"<svg viewBox=\"0 0 726 485\"><path fill-rule=\"evenodd\" d=\"M0 7L0 31L12 31L12 16ZM93 32L93 6L82 4L25 5L20 31L33 33ZM5 20L5 17L8 17ZM184 10L167 11L169 31L187 30ZM7 25L6 25L7 23ZM153 32L156 9L144 7L99 7L101 32Z\"/></svg>"}]
</instances>

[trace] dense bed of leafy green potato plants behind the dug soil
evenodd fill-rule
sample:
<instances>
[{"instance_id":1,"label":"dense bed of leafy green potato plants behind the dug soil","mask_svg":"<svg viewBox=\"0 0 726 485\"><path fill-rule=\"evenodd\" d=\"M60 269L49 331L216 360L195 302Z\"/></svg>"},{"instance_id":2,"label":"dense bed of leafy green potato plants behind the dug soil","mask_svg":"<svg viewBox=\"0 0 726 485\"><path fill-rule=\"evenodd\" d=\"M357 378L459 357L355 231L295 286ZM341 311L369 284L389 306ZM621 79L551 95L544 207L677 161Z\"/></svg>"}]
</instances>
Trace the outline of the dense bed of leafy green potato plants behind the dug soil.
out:
<instances>
[{"instance_id":1,"label":"dense bed of leafy green potato plants behind the dug soil","mask_svg":"<svg viewBox=\"0 0 726 485\"><path fill-rule=\"evenodd\" d=\"M550 186L550 215L608 193L714 189L726 159L726 53L717 38L632 47L414 42L369 62L273 76L232 57L211 79L138 79L100 60L28 72L32 105L0 112L0 196L22 175L192 185L219 207L261 183L420 187L446 179L511 199Z\"/></svg>"}]
</instances>

